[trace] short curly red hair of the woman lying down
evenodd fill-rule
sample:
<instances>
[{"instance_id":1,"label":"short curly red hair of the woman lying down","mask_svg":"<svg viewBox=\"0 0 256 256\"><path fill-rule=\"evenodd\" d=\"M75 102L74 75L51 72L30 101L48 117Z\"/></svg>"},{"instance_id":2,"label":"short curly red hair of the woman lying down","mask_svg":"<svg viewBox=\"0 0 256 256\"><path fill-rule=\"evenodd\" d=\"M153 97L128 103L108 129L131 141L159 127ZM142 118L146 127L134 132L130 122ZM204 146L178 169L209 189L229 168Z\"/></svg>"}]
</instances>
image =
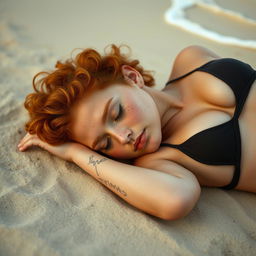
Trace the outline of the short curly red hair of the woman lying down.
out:
<instances>
[{"instance_id":1,"label":"short curly red hair of the woman lying down","mask_svg":"<svg viewBox=\"0 0 256 256\"><path fill-rule=\"evenodd\" d=\"M74 59L70 58L64 63L57 61L53 71L37 73L32 82L35 92L29 94L24 103L30 116L25 124L26 131L37 134L41 140L52 145L70 141L72 106L89 88L115 82L125 83L122 65L136 69L142 75L145 85L153 86L151 73L145 71L138 60L131 60L128 54L121 53L122 47L112 44L110 51L105 49L104 55L88 48Z\"/></svg>"}]
</instances>

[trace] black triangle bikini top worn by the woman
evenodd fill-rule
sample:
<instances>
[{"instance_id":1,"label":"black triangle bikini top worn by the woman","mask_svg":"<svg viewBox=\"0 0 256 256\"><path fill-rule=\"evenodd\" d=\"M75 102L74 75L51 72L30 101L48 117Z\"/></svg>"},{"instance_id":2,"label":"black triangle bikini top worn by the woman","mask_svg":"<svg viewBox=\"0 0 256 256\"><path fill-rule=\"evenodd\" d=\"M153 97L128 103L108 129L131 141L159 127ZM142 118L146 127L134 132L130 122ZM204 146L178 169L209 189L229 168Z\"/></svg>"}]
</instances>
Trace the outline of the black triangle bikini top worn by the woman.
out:
<instances>
[{"instance_id":1,"label":"black triangle bikini top worn by the woman","mask_svg":"<svg viewBox=\"0 0 256 256\"><path fill-rule=\"evenodd\" d=\"M225 82L234 92L236 108L231 120L196 133L181 144L162 143L161 146L177 148L184 154L208 165L234 165L235 172L230 184L225 189L234 188L240 177L241 138L238 117L243 109L256 71L248 64L236 59L215 59L170 80L166 85L180 80L195 71L209 73ZM207 84L206 84L207 86Z\"/></svg>"}]
</instances>

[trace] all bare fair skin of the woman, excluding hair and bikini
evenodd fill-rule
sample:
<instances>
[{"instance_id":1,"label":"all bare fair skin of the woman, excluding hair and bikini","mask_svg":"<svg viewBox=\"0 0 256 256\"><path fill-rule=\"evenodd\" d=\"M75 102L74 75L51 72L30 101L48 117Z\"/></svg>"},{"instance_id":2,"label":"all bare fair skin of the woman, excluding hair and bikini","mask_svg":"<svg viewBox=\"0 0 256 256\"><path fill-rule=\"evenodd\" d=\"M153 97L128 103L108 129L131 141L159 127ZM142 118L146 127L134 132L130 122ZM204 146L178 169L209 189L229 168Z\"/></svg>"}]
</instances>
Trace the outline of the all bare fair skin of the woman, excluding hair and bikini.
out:
<instances>
[{"instance_id":1,"label":"all bare fair skin of the woman, excluding hair and bikini","mask_svg":"<svg viewBox=\"0 0 256 256\"><path fill-rule=\"evenodd\" d=\"M188 47L177 56L170 78L215 58L218 56L205 48ZM129 66L123 66L122 73L127 84L114 84L100 91L91 90L74 106L71 127L76 143L51 146L36 135L27 134L21 140L19 150L42 147L76 163L136 208L162 219L181 218L198 201L199 183L206 186L226 185L232 178L234 168L205 165L176 149L159 148L159 145L161 142L181 143L198 131L228 120L235 107L232 91L227 90L223 82L202 72L195 72L162 91L146 87L141 75ZM209 84L207 89L200 86L205 84ZM211 91L213 86L215 91ZM216 86L223 97L214 97ZM256 102L255 87L254 84L241 116L247 161L242 162L241 179L237 186L237 189L250 192L256 192L256 172L249 151L255 152L256 146L246 133L256 137L252 128L253 125L256 127L256 118L252 117L252 108L255 109L253 101ZM108 102L109 108L103 120ZM210 105L207 111L205 102ZM140 135L141 143L136 145ZM135 159L134 165L108 159L95 151L117 159Z\"/></svg>"}]
</instances>

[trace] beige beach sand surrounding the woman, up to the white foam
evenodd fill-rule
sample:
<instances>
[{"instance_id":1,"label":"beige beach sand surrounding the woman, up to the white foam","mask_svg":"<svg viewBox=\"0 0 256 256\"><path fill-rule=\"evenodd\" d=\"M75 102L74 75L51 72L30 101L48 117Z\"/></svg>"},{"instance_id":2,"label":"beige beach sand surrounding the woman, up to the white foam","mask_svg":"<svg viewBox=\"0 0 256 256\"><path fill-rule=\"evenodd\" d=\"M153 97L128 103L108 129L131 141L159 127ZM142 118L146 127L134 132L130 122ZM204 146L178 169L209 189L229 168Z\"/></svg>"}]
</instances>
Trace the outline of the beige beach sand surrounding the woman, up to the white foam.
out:
<instances>
[{"instance_id":1,"label":"beige beach sand surrounding the woman, up to the white foam","mask_svg":"<svg viewBox=\"0 0 256 256\"><path fill-rule=\"evenodd\" d=\"M102 51L126 43L155 70L159 88L176 54L191 44L256 66L255 50L166 24L167 0L74 2L0 2L0 255L255 255L255 194L203 188L187 217L164 221L128 205L72 163L39 148L17 150L33 75L74 48Z\"/></svg>"}]
</instances>

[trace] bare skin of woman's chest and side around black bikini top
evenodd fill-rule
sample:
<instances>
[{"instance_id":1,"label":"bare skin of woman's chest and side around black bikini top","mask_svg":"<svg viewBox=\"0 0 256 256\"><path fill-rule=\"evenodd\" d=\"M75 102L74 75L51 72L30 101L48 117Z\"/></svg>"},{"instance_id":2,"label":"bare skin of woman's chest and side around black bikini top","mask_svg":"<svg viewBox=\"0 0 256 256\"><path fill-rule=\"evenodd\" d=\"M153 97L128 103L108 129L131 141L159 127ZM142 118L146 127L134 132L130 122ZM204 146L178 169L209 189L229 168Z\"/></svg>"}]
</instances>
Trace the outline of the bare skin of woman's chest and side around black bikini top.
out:
<instances>
[{"instance_id":1,"label":"bare skin of woman's chest and side around black bikini top","mask_svg":"<svg viewBox=\"0 0 256 256\"><path fill-rule=\"evenodd\" d=\"M236 108L234 92L224 81L201 71L173 82L164 88L167 94L179 90L183 110L163 128L163 142L181 144L207 128L232 119ZM256 82L238 118L241 137L240 179L236 189L256 192ZM219 143L222 143L221 141ZM192 171L201 185L222 187L230 183L234 165L207 165L194 160L179 149L161 147L157 154Z\"/></svg>"}]
</instances>

